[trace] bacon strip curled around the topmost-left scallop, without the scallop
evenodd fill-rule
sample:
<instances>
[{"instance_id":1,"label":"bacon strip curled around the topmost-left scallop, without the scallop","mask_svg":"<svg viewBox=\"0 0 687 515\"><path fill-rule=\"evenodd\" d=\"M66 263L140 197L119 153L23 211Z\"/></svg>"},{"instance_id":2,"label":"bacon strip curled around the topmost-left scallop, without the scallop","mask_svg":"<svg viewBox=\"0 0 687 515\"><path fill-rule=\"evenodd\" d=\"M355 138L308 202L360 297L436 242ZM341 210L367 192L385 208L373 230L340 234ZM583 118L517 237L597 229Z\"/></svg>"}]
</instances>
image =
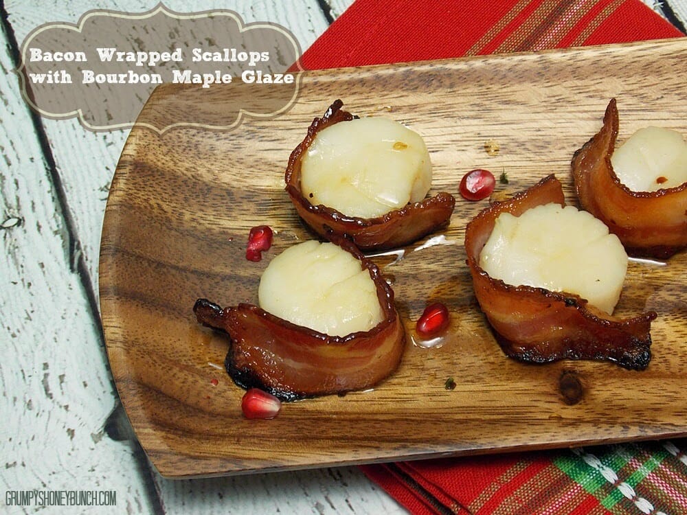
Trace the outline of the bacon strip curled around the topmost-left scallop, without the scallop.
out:
<instances>
[{"instance_id":1,"label":"bacon strip curled around the topmost-left scallop, without the scallop","mask_svg":"<svg viewBox=\"0 0 687 515\"><path fill-rule=\"evenodd\" d=\"M322 118L313 120L308 134L291 152L286 165L286 192L304 222L324 238L328 238L330 233L348 235L363 250L402 247L447 224L453 214L455 198L445 192L375 218L346 216L331 207L313 205L308 201L300 185L303 156L320 130L354 119L354 115L342 111L341 106L343 102L336 100Z\"/></svg>"}]
</instances>

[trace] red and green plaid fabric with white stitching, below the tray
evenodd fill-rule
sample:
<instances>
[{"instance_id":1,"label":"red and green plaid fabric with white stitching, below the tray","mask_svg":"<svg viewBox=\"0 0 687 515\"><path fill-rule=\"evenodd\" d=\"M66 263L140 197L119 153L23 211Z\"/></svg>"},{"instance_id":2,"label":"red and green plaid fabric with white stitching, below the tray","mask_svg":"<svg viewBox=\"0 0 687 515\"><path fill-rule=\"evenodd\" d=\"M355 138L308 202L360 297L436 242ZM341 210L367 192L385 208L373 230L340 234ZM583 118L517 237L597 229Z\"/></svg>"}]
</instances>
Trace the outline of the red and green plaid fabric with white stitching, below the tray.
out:
<instances>
[{"instance_id":1,"label":"red and green plaid fabric with white stitching, below the tray","mask_svg":"<svg viewBox=\"0 0 687 515\"><path fill-rule=\"evenodd\" d=\"M687 441L362 466L414 514L687 514Z\"/></svg>"}]
</instances>

